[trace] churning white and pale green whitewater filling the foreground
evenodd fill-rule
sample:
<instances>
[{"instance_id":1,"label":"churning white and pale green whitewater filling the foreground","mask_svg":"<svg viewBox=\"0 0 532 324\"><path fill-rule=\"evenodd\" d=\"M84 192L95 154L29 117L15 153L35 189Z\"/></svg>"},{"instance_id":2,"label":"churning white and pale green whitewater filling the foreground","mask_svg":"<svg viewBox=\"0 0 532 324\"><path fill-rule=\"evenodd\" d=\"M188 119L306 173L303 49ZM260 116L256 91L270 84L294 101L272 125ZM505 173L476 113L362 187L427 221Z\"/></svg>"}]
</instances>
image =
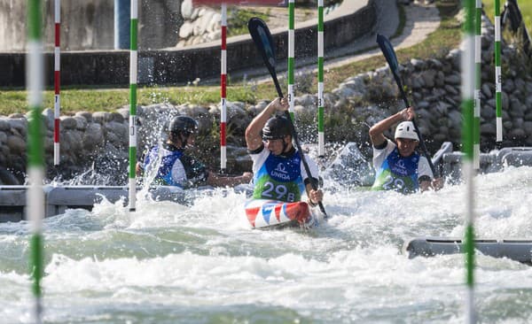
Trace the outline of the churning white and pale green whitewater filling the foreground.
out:
<instances>
[{"instance_id":1,"label":"churning white and pale green whitewater filling the foreground","mask_svg":"<svg viewBox=\"0 0 532 324\"><path fill-rule=\"evenodd\" d=\"M532 236L532 168L475 178L481 238ZM339 188L309 231L252 230L244 194L192 206L139 198L44 221L46 323L462 323L463 255L409 259L405 241L462 236L465 186L405 197ZM0 224L0 322L31 322L28 224ZM532 322L532 267L478 255L487 323Z\"/></svg>"}]
</instances>

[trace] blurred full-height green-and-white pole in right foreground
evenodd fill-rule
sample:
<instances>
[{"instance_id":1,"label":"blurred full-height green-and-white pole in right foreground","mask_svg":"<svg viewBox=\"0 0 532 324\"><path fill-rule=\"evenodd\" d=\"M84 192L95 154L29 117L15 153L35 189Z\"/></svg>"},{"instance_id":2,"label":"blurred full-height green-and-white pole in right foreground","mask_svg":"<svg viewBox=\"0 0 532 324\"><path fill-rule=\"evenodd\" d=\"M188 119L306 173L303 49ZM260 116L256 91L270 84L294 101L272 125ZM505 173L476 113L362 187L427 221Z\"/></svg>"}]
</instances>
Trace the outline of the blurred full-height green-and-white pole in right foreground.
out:
<instances>
[{"instance_id":1,"label":"blurred full-height green-and-white pole in right foreground","mask_svg":"<svg viewBox=\"0 0 532 324\"><path fill-rule=\"evenodd\" d=\"M474 41L473 41L473 0L465 0L465 23L464 23L464 45L462 53L462 145L464 157L462 160L462 172L465 180L465 282L466 282L466 320L474 323L476 320L474 311L474 187L473 187L473 138L474 116L473 110L473 83L475 82L475 61L474 61Z\"/></svg>"}]
</instances>

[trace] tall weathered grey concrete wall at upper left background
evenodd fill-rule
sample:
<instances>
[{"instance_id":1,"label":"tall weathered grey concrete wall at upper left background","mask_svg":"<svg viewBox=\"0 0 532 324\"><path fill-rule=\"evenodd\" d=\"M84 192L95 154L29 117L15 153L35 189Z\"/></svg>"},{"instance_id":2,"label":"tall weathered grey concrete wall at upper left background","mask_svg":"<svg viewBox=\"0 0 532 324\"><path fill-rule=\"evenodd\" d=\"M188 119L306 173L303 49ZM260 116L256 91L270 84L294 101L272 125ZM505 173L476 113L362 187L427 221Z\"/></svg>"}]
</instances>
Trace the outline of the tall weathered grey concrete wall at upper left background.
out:
<instances>
[{"instance_id":1,"label":"tall weathered grey concrete wall at upper left background","mask_svg":"<svg viewBox=\"0 0 532 324\"><path fill-rule=\"evenodd\" d=\"M61 1L61 50L113 50L115 4L115 0ZM54 6L54 1L43 1L43 46L49 51L54 46ZM183 23L180 9L179 0L139 0L138 35L143 40L139 50L175 46ZM0 52L26 50L26 14L26 1L0 0Z\"/></svg>"}]
</instances>

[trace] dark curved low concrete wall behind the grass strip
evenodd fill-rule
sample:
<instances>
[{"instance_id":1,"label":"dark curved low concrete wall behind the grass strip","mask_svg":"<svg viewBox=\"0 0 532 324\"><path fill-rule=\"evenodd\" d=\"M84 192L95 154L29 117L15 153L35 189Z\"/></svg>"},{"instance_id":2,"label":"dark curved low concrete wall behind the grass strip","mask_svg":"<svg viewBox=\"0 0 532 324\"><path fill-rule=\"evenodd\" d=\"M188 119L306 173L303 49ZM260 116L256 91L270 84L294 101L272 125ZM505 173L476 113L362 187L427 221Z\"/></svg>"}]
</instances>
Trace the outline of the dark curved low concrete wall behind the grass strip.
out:
<instances>
[{"instance_id":1,"label":"dark curved low concrete wall behind the grass strip","mask_svg":"<svg viewBox=\"0 0 532 324\"><path fill-rule=\"evenodd\" d=\"M358 2L357 2L358 3ZM377 19L374 0L365 5L344 1L325 17L326 50L341 47L372 31ZM301 26L300 26L301 25ZM317 56L317 25L296 24L295 55ZM271 31L279 60L286 59L287 31ZM142 36L142 35L141 35ZM139 44L143 40L139 40ZM249 35L230 37L227 44L228 73L262 66ZM46 83L53 84L53 53L45 54ZM297 62L296 62L297 63ZM25 54L0 53L0 87L22 87L26 84ZM184 50L139 50L139 84L183 84L195 78L215 78L220 74L220 42L209 42ZM129 84L129 51L66 51L61 54L61 85Z\"/></svg>"}]
</instances>

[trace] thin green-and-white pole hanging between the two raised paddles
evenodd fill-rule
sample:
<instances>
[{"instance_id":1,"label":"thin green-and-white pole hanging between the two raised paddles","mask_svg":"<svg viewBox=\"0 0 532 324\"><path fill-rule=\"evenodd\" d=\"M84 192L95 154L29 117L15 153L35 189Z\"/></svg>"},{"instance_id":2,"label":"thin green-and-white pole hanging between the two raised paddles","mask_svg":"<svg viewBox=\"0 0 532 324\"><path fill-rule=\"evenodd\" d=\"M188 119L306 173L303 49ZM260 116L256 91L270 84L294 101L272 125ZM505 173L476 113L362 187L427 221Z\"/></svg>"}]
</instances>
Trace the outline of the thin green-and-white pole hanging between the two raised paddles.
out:
<instances>
[{"instance_id":1,"label":"thin green-and-white pole hanging between the two raised paddles","mask_svg":"<svg viewBox=\"0 0 532 324\"><path fill-rule=\"evenodd\" d=\"M324 0L317 0L317 155L325 156Z\"/></svg>"}]
</instances>

